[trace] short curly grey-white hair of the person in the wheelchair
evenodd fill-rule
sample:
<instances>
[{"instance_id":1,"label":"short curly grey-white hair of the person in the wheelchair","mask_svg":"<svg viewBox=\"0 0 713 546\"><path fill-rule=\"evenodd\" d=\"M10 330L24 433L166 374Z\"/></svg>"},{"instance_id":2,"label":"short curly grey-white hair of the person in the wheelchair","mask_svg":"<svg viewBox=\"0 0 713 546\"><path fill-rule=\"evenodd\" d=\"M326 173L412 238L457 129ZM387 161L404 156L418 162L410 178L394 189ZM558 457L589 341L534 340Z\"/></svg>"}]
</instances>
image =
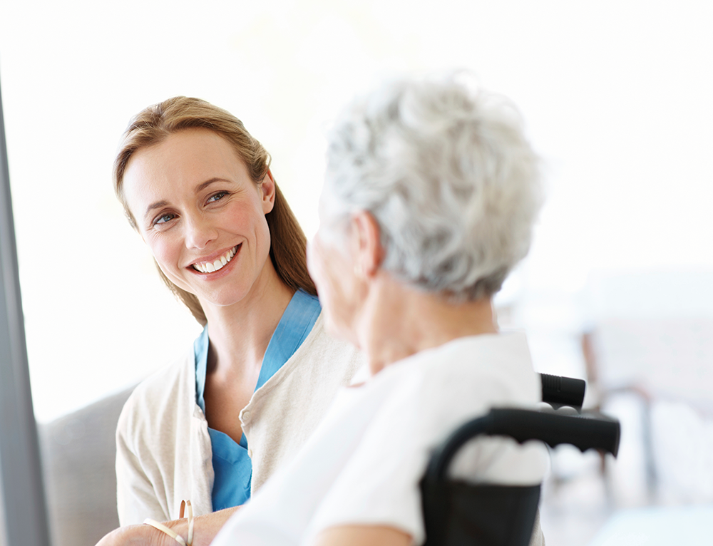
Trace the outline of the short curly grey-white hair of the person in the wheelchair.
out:
<instances>
[{"instance_id":1,"label":"short curly grey-white hair of the person in the wheelchair","mask_svg":"<svg viewBox=\"0 0 713 546\"><path fill-rule=\"evenodd\" d=\"M539 159L505 98L462 74L391 81L349 105L328 140L322 210L370 212L396 279L475 300L528 253Z\"/></svg>"}]
</instances>

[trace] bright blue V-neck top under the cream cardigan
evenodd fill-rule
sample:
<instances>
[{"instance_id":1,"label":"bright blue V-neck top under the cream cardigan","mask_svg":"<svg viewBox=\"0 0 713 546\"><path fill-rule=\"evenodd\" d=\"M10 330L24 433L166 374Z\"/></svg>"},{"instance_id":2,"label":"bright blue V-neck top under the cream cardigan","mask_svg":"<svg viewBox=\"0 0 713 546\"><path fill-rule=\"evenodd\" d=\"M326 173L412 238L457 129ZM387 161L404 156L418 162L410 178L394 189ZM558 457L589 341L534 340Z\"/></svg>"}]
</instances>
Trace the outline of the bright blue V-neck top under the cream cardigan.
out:
<instances>
[{"instance_id":1,"label":"bright blue V-neck top under the cream cardigan","mask_svg":"<svg viewBox=\"0 0 713 546\"><path fill-rule=\"evenodd\" d=\"M282 368L282 364L289 360L294 351L299 349L309 332L312 331L317 317L322 311L319 299L311 296L302 289L292 296L287 309L282 314L275 332L272 334L270 344L262 359L260 376L257 378L255 390L263 386L275 372ZM208 359L208 327L205 326L202 334L193 343L195 354L195 399L198 406L205 413L205 375ZM247 455L247 438L243 433L240 443L220 431L208 428L210 443L213 452L213 481L212 503L213 510L232 508L242 505L250 498L250 482L252 481L252 461Z\"/></svg>"}]
</instances>

